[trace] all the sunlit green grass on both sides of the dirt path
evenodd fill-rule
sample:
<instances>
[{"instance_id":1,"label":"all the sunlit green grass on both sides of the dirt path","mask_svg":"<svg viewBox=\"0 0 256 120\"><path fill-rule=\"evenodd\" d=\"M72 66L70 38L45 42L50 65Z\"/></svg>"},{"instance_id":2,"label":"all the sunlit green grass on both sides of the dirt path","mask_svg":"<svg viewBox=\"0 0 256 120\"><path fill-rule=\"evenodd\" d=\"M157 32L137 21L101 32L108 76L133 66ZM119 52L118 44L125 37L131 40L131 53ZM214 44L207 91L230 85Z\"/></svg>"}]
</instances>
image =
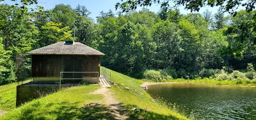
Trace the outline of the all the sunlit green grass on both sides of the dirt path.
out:
<instances>
[{"instance_id":1,"label":"all the sunlit green grass on both sides of the dirt path","mask_svg":"<svg viewBox=\"0 0 256 120\"><path fill-rule=\"evenodd\" d=\"M140 88L145 82L111 71L112 80L119 84L113 86L118 101L127 109L129 119L187 119L173 110L152 102L148 93ZM99 85L65 88L46 97L41 97L15 108L17 83L0 86L1 106L8 114L1 119L114 119L109 108L102 105L102 95L90 92L99 89ZM129 87L126 90L125 87ZM91 103L91 105L87 105ZM134 110L136 108L136 110Z\"/></svg>"}]
</instances>

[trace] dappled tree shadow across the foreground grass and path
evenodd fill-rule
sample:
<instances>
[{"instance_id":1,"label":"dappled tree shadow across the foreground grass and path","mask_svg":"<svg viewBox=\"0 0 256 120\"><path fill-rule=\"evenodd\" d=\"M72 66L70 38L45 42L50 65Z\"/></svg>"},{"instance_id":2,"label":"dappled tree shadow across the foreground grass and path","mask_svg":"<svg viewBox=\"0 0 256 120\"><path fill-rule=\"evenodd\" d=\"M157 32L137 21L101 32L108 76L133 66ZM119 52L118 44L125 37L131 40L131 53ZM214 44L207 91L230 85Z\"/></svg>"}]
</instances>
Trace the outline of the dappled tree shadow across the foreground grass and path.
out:
<instances>
[{"instance_id":1,"label":"dappled tree shadow across the foreground grass and path","mask_svg":"<svg viewBox=\"0 0 256 120\"><path fill-rule=\"evenodd\" d=\"M61 102L41 105L33 103L22 109L19 119L177 119L148 112L134 105L113 104L106 107L100 103L89 103L77 108L77 103ZM48 108L46 110L40 108ZM39 108L39 109L38 109ZM122 117L125 116L125 117Z\"/></svg>"}]
</instances>

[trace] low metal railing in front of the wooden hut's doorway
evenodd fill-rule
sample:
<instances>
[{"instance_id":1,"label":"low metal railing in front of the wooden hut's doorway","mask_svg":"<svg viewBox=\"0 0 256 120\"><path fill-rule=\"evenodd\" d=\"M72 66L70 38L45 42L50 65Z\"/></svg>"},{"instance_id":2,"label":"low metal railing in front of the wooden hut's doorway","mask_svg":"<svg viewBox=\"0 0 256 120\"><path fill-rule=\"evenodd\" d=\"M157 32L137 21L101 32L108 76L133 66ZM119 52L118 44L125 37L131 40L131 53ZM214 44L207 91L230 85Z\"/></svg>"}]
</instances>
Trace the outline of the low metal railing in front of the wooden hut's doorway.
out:
<instances>
[{"instance_id":1,"label":"low metal railing in front of the wooden hut's doorway","mask_svg":"<svg viewBox=\"0 0 256 120\"><path fill-rule=\"evenodd\" d=\"M72 74L72 76L67 77L64 74ZM81 74L80 77L76 77L74 76L74 74ZM60 87L61 87L61 81L64 82L64 80L86 80L88 79L88 77L91 76L83 76L82 74L97 74L97 76L93 76L93 77L97 77L97 83L99 83L99 72L60 72ZM95 78L92 78L95 79Z\"/></svg>"}]
</instances>

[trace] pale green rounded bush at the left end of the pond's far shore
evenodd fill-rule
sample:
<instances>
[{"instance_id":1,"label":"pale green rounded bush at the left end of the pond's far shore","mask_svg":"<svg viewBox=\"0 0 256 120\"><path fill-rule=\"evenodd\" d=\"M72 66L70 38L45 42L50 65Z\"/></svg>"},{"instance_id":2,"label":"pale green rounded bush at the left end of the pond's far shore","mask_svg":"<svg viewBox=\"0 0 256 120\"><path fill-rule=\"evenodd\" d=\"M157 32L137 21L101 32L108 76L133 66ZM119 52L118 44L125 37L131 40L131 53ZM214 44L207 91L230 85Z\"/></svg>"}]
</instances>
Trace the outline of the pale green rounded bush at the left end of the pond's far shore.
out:
<instances>
[{"instance_id":1,"label":"pale green rounded bush at the left end of the pond's far shore","mask_svg":"<svg viewBox=\"0 0 256 120\"><path fill-rule=\"evenodd\" d=\"M157 70L145 70L144 79L152 79L153 81L161 81L161 73Z\"/></svg>"}]
</instances>

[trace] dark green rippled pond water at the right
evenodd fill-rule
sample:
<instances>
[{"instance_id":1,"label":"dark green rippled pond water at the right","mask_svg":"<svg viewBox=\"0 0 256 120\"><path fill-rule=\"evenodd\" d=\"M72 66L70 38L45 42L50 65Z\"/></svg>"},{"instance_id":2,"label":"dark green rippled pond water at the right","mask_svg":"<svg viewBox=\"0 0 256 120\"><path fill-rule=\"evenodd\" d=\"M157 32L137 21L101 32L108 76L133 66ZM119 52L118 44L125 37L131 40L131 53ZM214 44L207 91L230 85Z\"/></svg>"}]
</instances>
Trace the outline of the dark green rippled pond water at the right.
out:
<instances>
[{"instance_id":1,"label":"dark green rippled pond water at the right","mask_svg":"<svg viewBox=\"0 0 256 120\"><path fill-rule=\"evenodd\" d=\"M147 91L196 119L256 119L254 87L172 83L150 85Z\"/></svg>"}]
</instances>

